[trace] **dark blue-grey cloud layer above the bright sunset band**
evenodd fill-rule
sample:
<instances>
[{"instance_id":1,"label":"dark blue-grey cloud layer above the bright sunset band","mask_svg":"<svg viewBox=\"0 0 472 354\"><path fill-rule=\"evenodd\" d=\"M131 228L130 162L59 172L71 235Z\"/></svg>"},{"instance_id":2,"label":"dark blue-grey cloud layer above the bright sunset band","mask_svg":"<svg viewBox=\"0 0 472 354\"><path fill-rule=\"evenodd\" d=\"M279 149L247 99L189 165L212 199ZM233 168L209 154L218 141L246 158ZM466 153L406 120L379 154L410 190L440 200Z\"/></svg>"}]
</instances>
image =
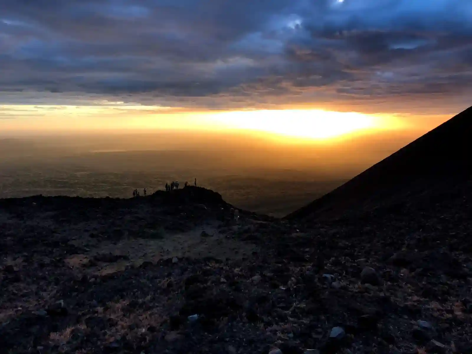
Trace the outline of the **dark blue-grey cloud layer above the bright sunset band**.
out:
<instances>
[{"instance_id":1,"label":"dark blue-grey cloud layer above the bright sunset band","mask_svg":"<svg viewBox=\"0 0 472 354\"><path fill-rule=\"evenodd\" d=\"M3 0L0 103L466 95L471 18L464 0Z\"/></svg>"}]
</instances>

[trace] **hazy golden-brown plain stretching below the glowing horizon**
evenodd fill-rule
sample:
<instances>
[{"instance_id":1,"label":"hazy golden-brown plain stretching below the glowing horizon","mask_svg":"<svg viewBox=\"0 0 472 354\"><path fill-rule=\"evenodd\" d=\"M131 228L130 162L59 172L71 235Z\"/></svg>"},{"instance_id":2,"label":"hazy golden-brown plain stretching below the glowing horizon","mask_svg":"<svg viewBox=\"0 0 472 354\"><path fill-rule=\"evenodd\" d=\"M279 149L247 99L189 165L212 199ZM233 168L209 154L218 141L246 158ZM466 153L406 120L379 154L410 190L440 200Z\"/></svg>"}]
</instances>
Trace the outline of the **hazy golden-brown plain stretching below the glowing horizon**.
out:
<instances>
[{"instance_id":1,"label":"hazy golden-brown plain stretching below the glowing horizon","mask_svg":"<svg viewBox=\"0 0 472 354\"><path fill-rule=\"evenodd\" d=\"M405 139L404 139L405 140ZM284 216L388 156L392 146L287 145L247 135L115 134L0 139L0 198L129 198L178 180L239 208ZM355 146L355 147L354 147Z\"/></svg>"}]
</instances>

